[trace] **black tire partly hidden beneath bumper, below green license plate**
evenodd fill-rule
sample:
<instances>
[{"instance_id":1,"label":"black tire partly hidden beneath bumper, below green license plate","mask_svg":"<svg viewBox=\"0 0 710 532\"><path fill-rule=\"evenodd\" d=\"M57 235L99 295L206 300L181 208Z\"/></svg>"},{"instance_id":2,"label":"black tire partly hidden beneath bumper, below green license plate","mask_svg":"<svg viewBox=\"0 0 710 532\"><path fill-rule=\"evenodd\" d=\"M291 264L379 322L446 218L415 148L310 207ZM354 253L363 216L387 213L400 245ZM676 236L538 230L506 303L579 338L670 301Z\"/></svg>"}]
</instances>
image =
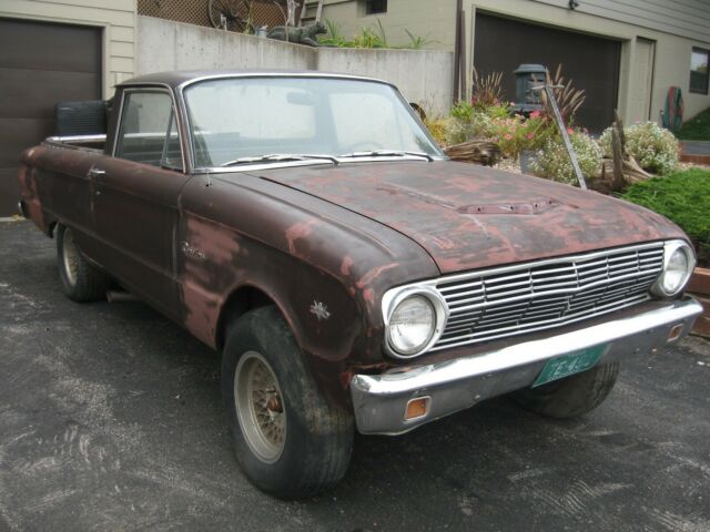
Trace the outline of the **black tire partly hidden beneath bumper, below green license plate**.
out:
<instances>
[{"instance_id":1,"label":"black tire partly hidden beneath bumper, below green license plate","mask_svg":"<svg viewBox=\"0 0 710 532\"><path fill-rule=\"evenodd\" d=\"M619 375L619 364L604 364L538 388L525 388L511 395L516 402L540 416L576 418L604 402Z\"/></svg>"}]
</instances>

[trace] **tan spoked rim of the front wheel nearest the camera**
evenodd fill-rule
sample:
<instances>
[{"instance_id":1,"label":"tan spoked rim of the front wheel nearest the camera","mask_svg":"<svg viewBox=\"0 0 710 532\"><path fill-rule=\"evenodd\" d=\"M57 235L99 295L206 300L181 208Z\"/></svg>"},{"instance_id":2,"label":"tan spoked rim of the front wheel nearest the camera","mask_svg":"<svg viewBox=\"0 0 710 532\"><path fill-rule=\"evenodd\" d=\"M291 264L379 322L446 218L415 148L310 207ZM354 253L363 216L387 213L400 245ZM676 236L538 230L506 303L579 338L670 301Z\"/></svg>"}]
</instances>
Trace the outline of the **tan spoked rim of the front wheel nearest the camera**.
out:
<instances>
[{"instance_id":1,"label":"tan spoked rim of the front wheel nearest the camera","mask_svg":"<svg viewBox=\"0 0 710 532\"><path fill-rule=\"evenodd\" d=\"M236 365L234 402L252 452L263 462L278 460L286 442L286 408L273 369L256 351L245 352Z\"/></svg>"}]
</instances>

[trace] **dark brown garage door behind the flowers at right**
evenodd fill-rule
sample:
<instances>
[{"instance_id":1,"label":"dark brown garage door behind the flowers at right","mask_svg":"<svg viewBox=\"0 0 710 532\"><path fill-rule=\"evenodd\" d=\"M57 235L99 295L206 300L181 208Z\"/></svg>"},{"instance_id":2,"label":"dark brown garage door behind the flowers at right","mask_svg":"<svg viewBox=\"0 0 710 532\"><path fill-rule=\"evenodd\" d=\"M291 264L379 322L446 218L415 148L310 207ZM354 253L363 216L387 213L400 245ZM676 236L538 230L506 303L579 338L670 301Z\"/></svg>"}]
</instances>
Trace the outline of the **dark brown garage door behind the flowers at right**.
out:
<instances>
[{"instance_id":1,"label":"dark brown garage door behind the flowers at right","mask_svg":"<svg viewBox=\"0 0 710 532\"><path fill-rule=\"evenodd\" d=\"M515 100L513 71L519 64L545 64L551 73L561 64L565 78L586 92L577 123L600 132L612 122L618 94L619 41L477 13L474 47L478 72L504 73L507 99Z\"/></svg>"}]
</instances>

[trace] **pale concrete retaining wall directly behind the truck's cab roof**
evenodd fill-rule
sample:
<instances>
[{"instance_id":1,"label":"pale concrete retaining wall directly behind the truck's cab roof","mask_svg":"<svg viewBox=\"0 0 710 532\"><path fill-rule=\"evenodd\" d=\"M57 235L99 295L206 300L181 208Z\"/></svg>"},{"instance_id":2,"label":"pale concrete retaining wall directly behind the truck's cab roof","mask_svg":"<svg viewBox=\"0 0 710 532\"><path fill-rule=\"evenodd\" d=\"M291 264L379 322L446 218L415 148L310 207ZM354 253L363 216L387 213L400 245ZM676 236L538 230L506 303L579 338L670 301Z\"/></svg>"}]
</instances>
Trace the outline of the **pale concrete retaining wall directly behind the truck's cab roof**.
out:
<instances>
[{"instance_id":1,"label":"pale concrete retaining wall directly behind the truck's cab roof","mask_svg":"<svg viewBox=\"0 0 710 532\"><path fill-rule=\"evenodd\" d=\"M386 80L430 114L447 113L452 103L450 52L316 49L143 16L136 27L136 75L196 69L320 70Z\"/></svg>"}]
</instances>

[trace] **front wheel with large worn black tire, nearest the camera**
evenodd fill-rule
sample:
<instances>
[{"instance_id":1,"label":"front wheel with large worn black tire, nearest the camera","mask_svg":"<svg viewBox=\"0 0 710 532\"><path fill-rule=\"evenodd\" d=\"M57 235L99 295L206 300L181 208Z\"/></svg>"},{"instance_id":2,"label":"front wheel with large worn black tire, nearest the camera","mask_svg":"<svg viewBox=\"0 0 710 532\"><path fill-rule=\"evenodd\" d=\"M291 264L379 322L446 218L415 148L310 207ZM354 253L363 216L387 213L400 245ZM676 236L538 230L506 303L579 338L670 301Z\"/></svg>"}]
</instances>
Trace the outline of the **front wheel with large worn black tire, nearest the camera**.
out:
<instances>
[{"instance_id":1,"label":"front wheel with large worn black tire, nearest the camera","mask_svg":"<svg viewBox=\"0 0 710 532\"><path fill-rule=\"evenodd\" d=\"M246 361L240 364L242 358ZM253 362L257 358L258 361ZM254 451L258 441L254 442L255 428L261 431L258 434L268 430L268 427L258 429L258 423L253 421L260 416L255 413L257 410L261 419L265 419L264 406L270 405L264 395L253 391L257 388L251 380L255 379L255 374L244 369L250 361L252 366L265 362L271 370L276 381L272 387L278 396L276 405L285 412L285 436L276 446L281 451L270 461ZM264 397L264 400L251 403L244 399L237 406L235 396L244 398L244 395ZM353 417L324 399L288 325L275 307L250 310L229 328L222 357L222 398L237 461L250 481L261 490L282 499L300 499L329 489L345 475L353 447ZM244 421L240 421L237 410ZM273 410L266 413L278 416ZM251 421L245 432L242 423Z\"/></svg>"}]
</instances>

